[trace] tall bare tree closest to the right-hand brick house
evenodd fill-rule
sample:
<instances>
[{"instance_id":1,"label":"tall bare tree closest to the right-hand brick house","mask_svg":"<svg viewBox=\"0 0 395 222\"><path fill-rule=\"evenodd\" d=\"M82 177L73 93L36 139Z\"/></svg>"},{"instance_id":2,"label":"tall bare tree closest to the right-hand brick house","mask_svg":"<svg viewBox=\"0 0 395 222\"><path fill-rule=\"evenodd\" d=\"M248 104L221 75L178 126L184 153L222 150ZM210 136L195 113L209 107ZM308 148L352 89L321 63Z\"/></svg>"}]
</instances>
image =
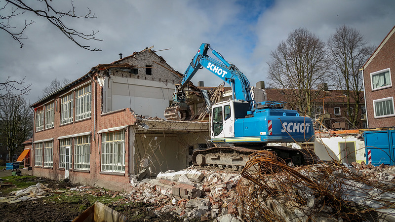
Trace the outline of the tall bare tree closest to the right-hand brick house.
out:
<instances>
[{"instance_id":1,"label":"tall bare tree closest to the right-hand brick house","mask_svg":"<svg viewBox=\"0 0 395 222\"><path fill-rule=\"evenodd\" d=\"M368 45L363 36L354 28L343 25L328 39L327 46L333 72L337 75L337 85L347 97L347 111L350 121L357 125L360 103L363 102L363 80L359 71L363 63L372 54L374 47ZM356 103L355 111L350 100Z\"/></svg>"}]
</instances>

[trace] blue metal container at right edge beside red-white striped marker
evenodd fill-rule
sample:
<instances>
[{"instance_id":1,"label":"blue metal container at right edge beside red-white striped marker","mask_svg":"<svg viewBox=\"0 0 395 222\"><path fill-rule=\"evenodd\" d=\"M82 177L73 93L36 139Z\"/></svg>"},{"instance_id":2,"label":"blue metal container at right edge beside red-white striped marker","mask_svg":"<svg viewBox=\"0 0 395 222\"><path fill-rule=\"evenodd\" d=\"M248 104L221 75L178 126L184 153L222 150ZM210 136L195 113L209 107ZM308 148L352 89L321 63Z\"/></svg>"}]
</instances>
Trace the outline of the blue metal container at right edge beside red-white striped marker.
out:
<instances>
[{"instance_id":1,"label":"blue metal container at right edge beside red-white striped marker","mask_svg":"<svg viewBox=\"0 0 395 222\"><path fill-rule=\"evenodd\" d=\"M395 165L395 130L368 131L365 140L366 164Z\"/></svg>"}]
</instances>

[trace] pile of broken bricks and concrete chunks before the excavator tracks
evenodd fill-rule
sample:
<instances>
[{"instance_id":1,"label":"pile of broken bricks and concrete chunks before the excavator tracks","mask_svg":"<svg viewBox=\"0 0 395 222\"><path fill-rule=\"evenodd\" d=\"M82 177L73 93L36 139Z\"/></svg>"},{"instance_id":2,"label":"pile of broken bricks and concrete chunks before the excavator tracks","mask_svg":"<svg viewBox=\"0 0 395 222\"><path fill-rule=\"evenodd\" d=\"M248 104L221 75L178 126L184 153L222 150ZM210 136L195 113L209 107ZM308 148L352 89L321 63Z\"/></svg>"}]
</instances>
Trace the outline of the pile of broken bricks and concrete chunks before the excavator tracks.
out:
<instances>
[{"instance_id":1,"label":"pile of broken bricks and concrete chunks before the excavator tracks","mask_svg":"<svg viewBox=\"0 0 395 222\"><path fill-rule=\"evenodd\" d=\"M203 221L239 221L236 218L237 173L198 171L167 171L157 179L144 179L136 184L130 201L152 202L157 215L171 212L174 216Z\"/></svg>"}]
</instances>

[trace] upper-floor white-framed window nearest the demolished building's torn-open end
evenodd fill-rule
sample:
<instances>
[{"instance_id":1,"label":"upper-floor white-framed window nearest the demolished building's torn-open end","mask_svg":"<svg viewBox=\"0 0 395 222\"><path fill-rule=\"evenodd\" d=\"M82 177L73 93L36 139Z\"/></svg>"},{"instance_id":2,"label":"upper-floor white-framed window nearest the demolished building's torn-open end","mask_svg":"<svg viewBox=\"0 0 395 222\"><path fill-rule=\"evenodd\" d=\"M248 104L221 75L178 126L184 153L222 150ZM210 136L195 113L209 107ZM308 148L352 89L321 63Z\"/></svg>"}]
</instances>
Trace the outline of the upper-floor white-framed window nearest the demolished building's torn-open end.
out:
<instances>
[{"instance_id":1,"label":"upper-floor white-framed window nearest the demolished building's torn-open end","mask_svg":"<svg viewBox=\"0 0 395 222\"><path fill-rule=\"evenodd\" d=\"M76 120L91 116L91 91L91 84L83 86L76 91Z\"/></svg>"}]
</instances>

